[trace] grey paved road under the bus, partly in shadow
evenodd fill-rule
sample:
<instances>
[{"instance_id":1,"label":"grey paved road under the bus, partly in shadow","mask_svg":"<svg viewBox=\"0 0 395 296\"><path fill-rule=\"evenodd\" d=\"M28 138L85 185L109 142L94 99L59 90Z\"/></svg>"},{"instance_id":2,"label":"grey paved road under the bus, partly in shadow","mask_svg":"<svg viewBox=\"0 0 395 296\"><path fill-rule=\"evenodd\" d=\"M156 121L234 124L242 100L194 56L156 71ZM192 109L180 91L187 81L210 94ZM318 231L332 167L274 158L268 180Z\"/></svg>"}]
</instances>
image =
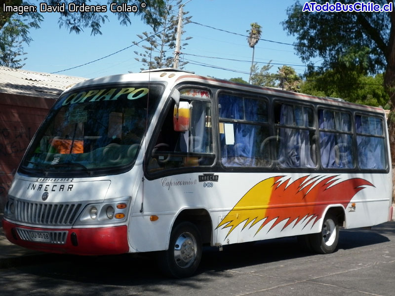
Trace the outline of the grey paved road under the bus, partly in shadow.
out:
<instances>
[{"instance_id":1,"label":"grey paved road under the bus, partly in shadow","mask_svg":"<svg viewBox=\"0 0 395 296\"><path fill-rule=\"evenodd\" d=\"M204 250L196 276L163 278L145 256L37 254L0 269L0 295L395 295L395 222L341 231L339 250L312 255L295 238Z\"/></svg>"}]
</instances>

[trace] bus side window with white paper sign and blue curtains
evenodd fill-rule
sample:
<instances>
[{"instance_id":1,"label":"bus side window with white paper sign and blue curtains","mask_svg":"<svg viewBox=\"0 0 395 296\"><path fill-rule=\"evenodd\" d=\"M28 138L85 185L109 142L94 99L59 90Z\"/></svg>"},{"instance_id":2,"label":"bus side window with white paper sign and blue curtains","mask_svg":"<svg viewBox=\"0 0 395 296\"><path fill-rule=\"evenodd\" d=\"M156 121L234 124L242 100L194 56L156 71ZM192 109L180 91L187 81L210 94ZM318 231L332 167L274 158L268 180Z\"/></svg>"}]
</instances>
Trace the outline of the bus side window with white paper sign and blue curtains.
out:
<instances>
[{"instance_id":1,"label":"bus side window with white paper sign and blue curtains","mask_svg":"<svg viewBox=\"0 0 395 296\"><path fill-rule=\"evenodd\" d=\"M271 165L267 102L220 94L221 162L226 167Z\"/></svg>"}]
</instances>

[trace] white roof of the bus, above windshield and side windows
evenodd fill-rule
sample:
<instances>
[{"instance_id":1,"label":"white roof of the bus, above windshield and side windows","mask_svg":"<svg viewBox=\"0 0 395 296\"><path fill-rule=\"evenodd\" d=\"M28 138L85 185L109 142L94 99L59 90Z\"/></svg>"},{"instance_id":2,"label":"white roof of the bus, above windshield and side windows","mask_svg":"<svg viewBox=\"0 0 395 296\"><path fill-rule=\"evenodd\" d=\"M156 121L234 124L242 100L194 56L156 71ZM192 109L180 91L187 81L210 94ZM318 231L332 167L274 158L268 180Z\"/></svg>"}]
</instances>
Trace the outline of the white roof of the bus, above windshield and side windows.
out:
<instances>
[{"instance_id":1,"label":"white roof of the bus, above windshield and side windows","mask_svg":"<svg viewBox=\"0 0 395 296\"><path fill-rule=\"evenodd\" d=\"M79 88L83 86L88 86L92 84L108 84L108 83L117 83L117 82L131 82L131 81L140 81L140 82L147 82L147 81L165 81L168 85L173 88L176 84L190 81L190 82L197 82L201 84L208 84L217 87L226 87L228 89L234 89L238 91L252 91L252 92L259 92L262 95L273 95L278 97L285 97L289 99L297 99L302 101L308 102L315 102L315 103L322 103L322 104L329 104L334 105L337 107L345 107L345 108L353 108L359 109L363 111L372 111L372 112L381 112L384 113L383 108L378 107L371 107L366 105L360 105L356 103L346 102L339 98L323 98L323 97L316 97L301 93L296 93L292 91L281 90L274 87L267 87L267 86L257 86L251 84L243 84L238 82L233 82L224 79L218 79L213 77L207 76L200 76L194 74L193 72L183 71L179 69L173 68L164 68L164 69L153 69L151 71L145 70L141 73L129 73L129 74L118 74L118 75L111 75L111 76L104 76L93 78L89 80L85 80L79 82L73 88ZM70 91L68 89L67 91Z\"/></svg>"}]
</instances>

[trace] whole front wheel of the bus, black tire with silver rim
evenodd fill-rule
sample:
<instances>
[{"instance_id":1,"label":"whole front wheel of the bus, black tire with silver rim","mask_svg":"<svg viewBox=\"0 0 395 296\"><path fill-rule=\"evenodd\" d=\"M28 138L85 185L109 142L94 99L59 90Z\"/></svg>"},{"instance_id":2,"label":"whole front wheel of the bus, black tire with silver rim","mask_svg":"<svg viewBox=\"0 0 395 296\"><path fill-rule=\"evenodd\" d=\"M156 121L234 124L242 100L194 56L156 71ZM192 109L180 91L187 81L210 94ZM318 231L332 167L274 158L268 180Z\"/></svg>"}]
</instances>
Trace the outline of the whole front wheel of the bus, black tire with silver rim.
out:
<instances>
[{"instance_id":1,"label":"whole front wheel of the bus, black tire with silver rim","mask_svg":"<svg viewBox=\"0 0 395 296\"><path fill-rule=\"evenodd\" d=\"M181 222L171 230L168 250L159 254L159 267L168 276L189 277L200 263L201 249L201 237L195 224Z\"/></svg>"}]
</instances>

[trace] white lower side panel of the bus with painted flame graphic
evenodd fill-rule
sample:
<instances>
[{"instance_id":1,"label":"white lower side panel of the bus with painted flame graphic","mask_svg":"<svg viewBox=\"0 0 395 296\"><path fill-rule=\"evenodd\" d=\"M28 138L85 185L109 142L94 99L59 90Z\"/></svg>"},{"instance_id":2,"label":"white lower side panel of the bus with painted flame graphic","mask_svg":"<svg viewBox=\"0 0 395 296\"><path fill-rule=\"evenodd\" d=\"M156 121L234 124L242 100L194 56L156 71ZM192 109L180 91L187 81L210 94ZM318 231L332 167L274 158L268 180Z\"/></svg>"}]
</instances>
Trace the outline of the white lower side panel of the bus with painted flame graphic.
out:
<instances>
[{"instance_id":1,"label":"white lower side panel of the bus with painted flame graphic","mask_svg":"<svg viewBox=\"0 0 395 296\"><path fill-rule=\"evenodd\" d=\"M144 212L139 212L139 197L130 222L135 250L165 250L184 209L207 209L211 244L225 245L319 232L331 207L346 212L348 228L386 222L390 208L391 183L385 174L233 172L214 173L215 182L199 182L200 175L145 181ZM150 221L151 215L158 221Z\"/></svg>"}]
</instances>

